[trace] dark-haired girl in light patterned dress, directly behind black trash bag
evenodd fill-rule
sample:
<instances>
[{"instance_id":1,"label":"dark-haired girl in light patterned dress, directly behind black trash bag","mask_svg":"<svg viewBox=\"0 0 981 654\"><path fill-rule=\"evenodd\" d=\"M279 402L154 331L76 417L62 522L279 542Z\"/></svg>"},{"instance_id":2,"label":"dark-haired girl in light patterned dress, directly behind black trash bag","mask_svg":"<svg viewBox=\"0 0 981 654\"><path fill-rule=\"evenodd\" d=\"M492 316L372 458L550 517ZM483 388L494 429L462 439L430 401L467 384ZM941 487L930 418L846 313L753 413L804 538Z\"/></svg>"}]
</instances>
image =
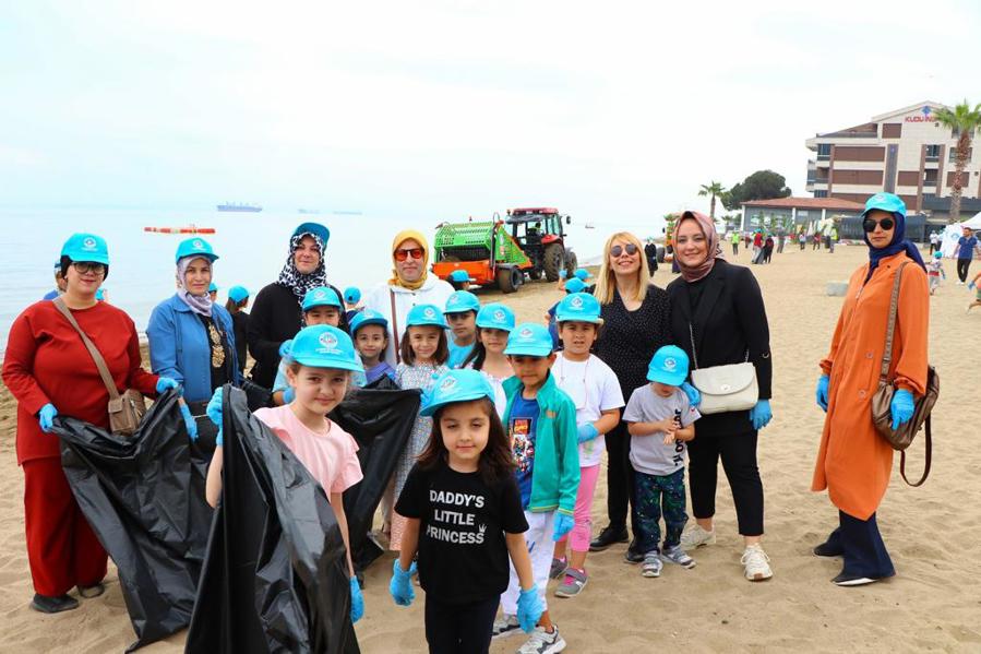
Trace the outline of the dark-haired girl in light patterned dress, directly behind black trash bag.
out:
<instances>
[{"instance_id":1,"label":"dark-haired girl in light patterned dress, directly behind black trash bag","mask_svg":"<svg viewBox=\"0 0 981 654\"><path fill-rule=\"evenodd\" d=\"M443 310L435 305L417 305L406 316L405 333L402 336L402 362L395 368L395 383L400 389L420 389L423 394L432 388L434 378L443 374L450 352L446 345L446 330L450 325L443 319ZM397 499L432 431L432 418L416 416L412 433L402 451L398 465L395 467L393 499ZM392 502L394 503L394 502ZM405 518L397 512L392 513L388 548L398 551L402 546L402 534ZM384 531L384 526L382 527Z\"/></svg>"}]
</instances>

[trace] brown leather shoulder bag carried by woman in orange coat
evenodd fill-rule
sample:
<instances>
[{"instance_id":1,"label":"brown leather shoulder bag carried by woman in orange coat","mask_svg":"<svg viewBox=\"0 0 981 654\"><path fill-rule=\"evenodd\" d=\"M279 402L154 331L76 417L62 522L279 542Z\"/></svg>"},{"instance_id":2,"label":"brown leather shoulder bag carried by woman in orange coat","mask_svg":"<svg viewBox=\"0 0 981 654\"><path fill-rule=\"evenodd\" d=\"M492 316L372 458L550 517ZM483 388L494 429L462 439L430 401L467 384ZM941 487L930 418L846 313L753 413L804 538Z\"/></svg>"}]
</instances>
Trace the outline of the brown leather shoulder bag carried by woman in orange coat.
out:
<instances>
[{"instance_id":1,"label":"brown leather shoulder bag carried by woman in orange coat","mask_svg":"<svg viewBox=\"0 0 981 654\"><path fill-rule=\"evenodd\" d=\"M930 462L933 454L933 438L930 429L930 412L941 392L941 381L933 366L926 366L926 392L913 401L913 416L897 429L893 429L893 414L890 405L893 394L896 392L893 380L889 379L889 364L893 360L893 334L896 331L896 310L899 305L899 283L902 278L902 269L910 262L904 262L896 271L896 282L893 284L893 297L889 301L889 323L886 329L886 349L883 353L882 369L878 374L878 389L872 396L872 421L875 429L889 442L894 450L900 452L899 474L902 480L910 486L920 486L930 474ZM926 436L926 462L923 466L923 476L916 484L910 484L906 478L906 449L913 442L920 428L925 428Z\"/></svg>"}]
</instances>

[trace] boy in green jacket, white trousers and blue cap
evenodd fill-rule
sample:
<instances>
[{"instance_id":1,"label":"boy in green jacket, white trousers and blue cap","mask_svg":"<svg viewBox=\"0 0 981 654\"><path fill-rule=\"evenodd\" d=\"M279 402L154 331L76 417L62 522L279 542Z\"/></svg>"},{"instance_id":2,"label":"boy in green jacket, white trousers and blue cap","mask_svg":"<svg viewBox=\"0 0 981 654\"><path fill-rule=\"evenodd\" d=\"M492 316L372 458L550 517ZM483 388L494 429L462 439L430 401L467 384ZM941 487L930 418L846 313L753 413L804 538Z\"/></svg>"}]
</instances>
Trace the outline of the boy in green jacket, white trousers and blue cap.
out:
<instances>
[{"instance_id":1,"label":"boy in green jacket, white trousers and blue cap","mask_svg":"<svg viewBox=\"0 0 981 654\"><path fill-rule=\"evenodd\" d=\"M504 425L517 465L515 476L528 531L525 542L531 554L531 573L545 611L523 652L560 652L565 640L552 622L545 597L552 563L550 544L572 531L579 486L579 453L576 440L576 407L550 373L555 355L552 337L542 324L515 326L504 354L514 377L504 382L507 408ZM502 616L494 621L494 638L516 633L521 586L512 568L511 583L501 597Z\"/></svg>"}]
</instances>

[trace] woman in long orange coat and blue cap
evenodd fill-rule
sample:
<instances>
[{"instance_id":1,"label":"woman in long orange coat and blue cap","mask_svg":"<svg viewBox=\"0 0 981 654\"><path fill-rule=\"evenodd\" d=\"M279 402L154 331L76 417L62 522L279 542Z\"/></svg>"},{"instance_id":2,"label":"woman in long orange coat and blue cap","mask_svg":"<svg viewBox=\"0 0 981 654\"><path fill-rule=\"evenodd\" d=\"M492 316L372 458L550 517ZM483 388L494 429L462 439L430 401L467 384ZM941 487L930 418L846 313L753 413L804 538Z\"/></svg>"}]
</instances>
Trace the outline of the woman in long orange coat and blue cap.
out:
<instances>
[{"instance_id":1,"label":"woman in long orange coat and blue cap","mask_svg":"<svg viewBox=\"0 0 981 654\"><path fill-rule=\"evenodd\" d=\"M817 404L827 412L812 490L827 488L838 508L839 526L814 548L822 557L845 559L834 581L851 586L894 575L893 562L875 522L875 511L893 471L893 448L872 423L872 396L885 350L893 284L902 270L889 379L897 389L893 426L908 421L913 396L926 385L926 329L930 294L923 260L905 239L906 205L892 193L865 203L862 228L869 263L852 274L832 348L821 362Z\"/></svg>"}]
</instances>

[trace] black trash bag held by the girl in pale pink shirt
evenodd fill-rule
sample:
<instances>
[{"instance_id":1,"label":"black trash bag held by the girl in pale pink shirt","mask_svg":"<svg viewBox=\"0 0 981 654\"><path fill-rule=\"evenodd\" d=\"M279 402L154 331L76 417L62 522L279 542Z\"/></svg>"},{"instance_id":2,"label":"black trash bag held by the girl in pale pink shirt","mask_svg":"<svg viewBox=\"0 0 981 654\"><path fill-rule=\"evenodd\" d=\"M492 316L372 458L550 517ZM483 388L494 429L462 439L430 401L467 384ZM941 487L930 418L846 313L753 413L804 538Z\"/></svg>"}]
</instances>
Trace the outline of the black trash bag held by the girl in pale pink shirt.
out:
<instances>
[{"instance_id":1,"label":"black trash bag held by the girl in pale pink shirt","mask_svg":"<svg viewBox=\"0 0 981 654\"><path fill-rule=\"evenodd\" d=\"M327 496L303 464L224 391L222 502L187 652L356 654L347 556Z\"/></svg>"}]
</instances>

